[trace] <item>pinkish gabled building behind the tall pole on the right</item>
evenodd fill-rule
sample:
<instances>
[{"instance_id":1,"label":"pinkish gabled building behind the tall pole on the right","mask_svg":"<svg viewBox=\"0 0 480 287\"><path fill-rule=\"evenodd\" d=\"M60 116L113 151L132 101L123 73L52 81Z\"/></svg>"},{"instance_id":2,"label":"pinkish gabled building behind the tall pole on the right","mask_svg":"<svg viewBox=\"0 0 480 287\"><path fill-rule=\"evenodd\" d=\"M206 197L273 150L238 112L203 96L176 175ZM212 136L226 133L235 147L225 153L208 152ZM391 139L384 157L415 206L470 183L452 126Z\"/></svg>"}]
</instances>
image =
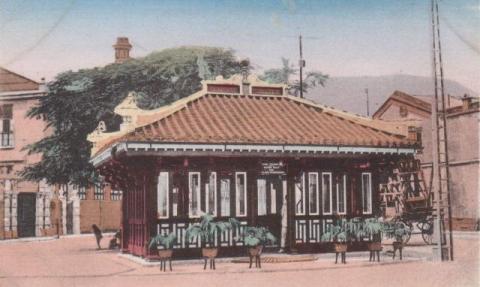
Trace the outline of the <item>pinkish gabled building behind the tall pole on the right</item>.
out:
<instances>
[{"instance_id":1,"label":"pinkish gabled building behind the tall pole on the right","mask_svg":"<svg viewBox=\"0 0 480 287\"><path fill-rule=\"evenodd\" d=\"M395 91L373 114L374 119L403 121L421 136L422 162L427 185L432 175L432 96L413 96ZM479 100L465 95L447 98L448 156L452 223L456 230L478 230L480 218Z\"/></svg>"}]
</instances>

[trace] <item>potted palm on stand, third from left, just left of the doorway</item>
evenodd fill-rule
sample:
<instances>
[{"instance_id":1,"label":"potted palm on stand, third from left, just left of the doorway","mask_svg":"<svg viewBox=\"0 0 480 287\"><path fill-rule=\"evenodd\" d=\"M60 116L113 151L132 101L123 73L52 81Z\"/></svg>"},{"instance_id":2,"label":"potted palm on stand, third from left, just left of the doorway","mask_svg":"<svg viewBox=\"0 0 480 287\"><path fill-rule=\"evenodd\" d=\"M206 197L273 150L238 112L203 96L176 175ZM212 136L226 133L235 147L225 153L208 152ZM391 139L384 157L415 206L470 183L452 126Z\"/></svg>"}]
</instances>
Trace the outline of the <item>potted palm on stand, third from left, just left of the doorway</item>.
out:
<instances>
[{"instance_id":1,"label":"potted palm on stand, third from left, just left of the doorway","mask_svg":"<svg viewBox=\"0 0 480 287\"><path fill-rule=\"evenodd\" d=\"M250 257L250 266L255 258L255 267L262 268L260 263L260 255L266 244L274 244L277 241L275 236L265 227L246 227L243 234L243 243L248 248L248 256Z\"/></svg>"}]
</instances>

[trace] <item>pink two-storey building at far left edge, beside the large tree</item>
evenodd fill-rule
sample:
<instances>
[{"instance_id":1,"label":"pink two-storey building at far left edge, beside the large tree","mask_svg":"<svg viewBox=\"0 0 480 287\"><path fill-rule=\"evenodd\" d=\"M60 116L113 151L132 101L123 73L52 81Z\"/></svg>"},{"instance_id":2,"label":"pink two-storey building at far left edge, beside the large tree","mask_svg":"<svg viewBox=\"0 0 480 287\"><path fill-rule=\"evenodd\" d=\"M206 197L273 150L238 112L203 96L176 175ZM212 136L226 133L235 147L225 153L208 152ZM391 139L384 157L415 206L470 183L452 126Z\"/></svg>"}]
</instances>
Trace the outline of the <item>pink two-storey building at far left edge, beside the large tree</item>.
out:
<instances>
[{"instance_id":1,"label":"pink two-storey building at far left edge, beside the large tree","mask_svg":"<svg viewBox=\"0 0 480 287\"><path fill-rule=\"evenodd\" d=\"M54 189L44 181L22 180L18 172L41 159L24 148L50 131L27 113L45 97L44 85L0 68L0 239L52 234Z\"/></svg>"}]
</instances>

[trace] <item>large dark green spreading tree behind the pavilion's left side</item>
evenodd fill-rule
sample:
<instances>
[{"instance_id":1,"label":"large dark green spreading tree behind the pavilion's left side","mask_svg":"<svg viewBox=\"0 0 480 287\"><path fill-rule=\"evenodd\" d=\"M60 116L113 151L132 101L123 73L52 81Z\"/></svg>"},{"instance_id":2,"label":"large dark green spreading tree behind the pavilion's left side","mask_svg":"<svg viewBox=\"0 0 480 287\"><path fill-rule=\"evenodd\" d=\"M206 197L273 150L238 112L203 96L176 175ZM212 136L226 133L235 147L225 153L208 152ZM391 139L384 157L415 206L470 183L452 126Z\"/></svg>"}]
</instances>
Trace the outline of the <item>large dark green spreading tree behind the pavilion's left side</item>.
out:
<instances>
[{"instance_id":1,"label":"large dark green spreading tree behind the pavilion's left side","mask_svg":"<svg viewBox=\"0 0 480 287\"><path fill-rule=\"evenodd\" d=\"M108 130L118 127L121 119L113 109L128 92L139 93L140 107L153 109L193 94L202 79L229 77L245 68L250 68L248 62L240 62L229 49L180 47L122 64L61 73L28 113L43 118L52 135L27 147L29 153L41 153L42 160L21 175L51 184L86 185L95 179L87 135L100 120Z\"/></svg>"}]
</instances>

